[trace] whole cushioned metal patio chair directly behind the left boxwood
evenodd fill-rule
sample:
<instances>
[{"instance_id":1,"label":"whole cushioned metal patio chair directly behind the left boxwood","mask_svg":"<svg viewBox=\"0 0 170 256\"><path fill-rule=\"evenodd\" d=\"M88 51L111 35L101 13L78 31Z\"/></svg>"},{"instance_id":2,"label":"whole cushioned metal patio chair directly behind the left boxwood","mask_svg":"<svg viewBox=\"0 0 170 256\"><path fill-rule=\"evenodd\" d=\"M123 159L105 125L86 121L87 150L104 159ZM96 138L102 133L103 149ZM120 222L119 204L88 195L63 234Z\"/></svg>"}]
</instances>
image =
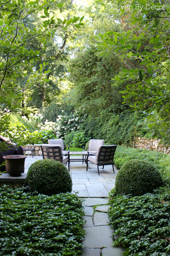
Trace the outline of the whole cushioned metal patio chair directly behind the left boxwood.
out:
<instances>
[{"instance_id":1,"label":"whole cushioned metal patio chair directly behind the left boxwood","mask_svg":"<svg viewBox=\"0 0 170 256\"><path fill-rule=\"evenodd\" d=\"M70 156L68 154L69 151L65 151L63 153L62 147L59 144L42 144L42 158L43 159L54 159L59 161L61 164L67 165L68 162L68 169L70 171ZM66 156L68 154L68 156Z\"/></svg>"}]
</instances>

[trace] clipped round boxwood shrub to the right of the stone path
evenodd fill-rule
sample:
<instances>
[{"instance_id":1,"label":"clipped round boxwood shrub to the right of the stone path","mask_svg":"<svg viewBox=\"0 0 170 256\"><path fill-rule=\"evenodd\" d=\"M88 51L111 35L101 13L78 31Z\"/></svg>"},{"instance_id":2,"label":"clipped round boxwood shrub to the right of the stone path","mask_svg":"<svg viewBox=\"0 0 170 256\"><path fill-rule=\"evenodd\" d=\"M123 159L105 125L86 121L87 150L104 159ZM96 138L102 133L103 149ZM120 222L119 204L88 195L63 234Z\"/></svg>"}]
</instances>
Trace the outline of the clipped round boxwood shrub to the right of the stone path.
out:
<instances>
[{"instance_id":1,"label":"clipped round boxwood shrub to the right of the stone path","mask_svg":"<svg viewBox=\"0 0 170 256\"><path fill-rule=\"evenodd\" d=\"M118 171L115 191L120 195L139 196L152 193L161 184L161 174L153 164L134 159L126 162Z\"/></svg>"}]
</instances>

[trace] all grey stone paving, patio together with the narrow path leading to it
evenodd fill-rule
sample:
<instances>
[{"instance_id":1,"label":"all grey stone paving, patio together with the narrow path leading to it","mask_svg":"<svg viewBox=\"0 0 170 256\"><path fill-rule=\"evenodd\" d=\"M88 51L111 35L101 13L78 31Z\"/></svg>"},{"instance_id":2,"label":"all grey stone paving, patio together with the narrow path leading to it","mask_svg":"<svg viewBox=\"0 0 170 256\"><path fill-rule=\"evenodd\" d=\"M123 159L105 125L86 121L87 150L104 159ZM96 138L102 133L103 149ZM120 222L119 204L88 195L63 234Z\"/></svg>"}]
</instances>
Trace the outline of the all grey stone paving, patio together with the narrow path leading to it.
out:
<instances>
[{"instance_id":1,"label":"all grey stone paving, patio together with the narrow path leading to it","mask_svg":"<svg viewBox=\"0 0 170 256\"><path fill-rule=\"evenodd\" d=\"M80 157L74 156L74 158ZM25 159L25 172L33 162L39 159L42 157L27 157ZM112 247L115 241L111 238L114 230L111 229L107 215L108 207L106 206L107 197L111 189L114 188L118 170L114 167L114 174L112 166L105 166L104 171L99 169L100 175L98 175L97 166L95 164L89 164L89 166L91 169L86 172L85 163L71 162L70 169L73 181L72 193L78 192L78 196L85 199L83 203L84 219L86 220L86 224L83 226L86 232L83 241L84 256L121 256L124 249Z\"/></svg>"}]
</instances>

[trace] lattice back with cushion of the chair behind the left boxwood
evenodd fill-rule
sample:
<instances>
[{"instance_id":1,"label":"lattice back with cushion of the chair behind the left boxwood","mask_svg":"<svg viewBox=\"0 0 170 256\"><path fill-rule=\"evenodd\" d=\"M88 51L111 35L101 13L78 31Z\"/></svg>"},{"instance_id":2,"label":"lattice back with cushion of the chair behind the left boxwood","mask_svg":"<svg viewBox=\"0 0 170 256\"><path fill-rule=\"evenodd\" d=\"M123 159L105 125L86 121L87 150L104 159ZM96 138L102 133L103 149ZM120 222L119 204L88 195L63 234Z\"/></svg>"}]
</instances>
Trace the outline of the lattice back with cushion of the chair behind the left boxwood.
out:
<instances>
[{"instance_id":1,"label":"lattice back with cushion of the chair behind the left boxwood","mask_svg":"<svg viewBox=\"0 0 170 256\"><path fill-rule=\"evenodd\" d=\"M41 150L43 159L54 159L59 162L63 161L61 145L42 144Z\"/></svg>"}]
</instances>

